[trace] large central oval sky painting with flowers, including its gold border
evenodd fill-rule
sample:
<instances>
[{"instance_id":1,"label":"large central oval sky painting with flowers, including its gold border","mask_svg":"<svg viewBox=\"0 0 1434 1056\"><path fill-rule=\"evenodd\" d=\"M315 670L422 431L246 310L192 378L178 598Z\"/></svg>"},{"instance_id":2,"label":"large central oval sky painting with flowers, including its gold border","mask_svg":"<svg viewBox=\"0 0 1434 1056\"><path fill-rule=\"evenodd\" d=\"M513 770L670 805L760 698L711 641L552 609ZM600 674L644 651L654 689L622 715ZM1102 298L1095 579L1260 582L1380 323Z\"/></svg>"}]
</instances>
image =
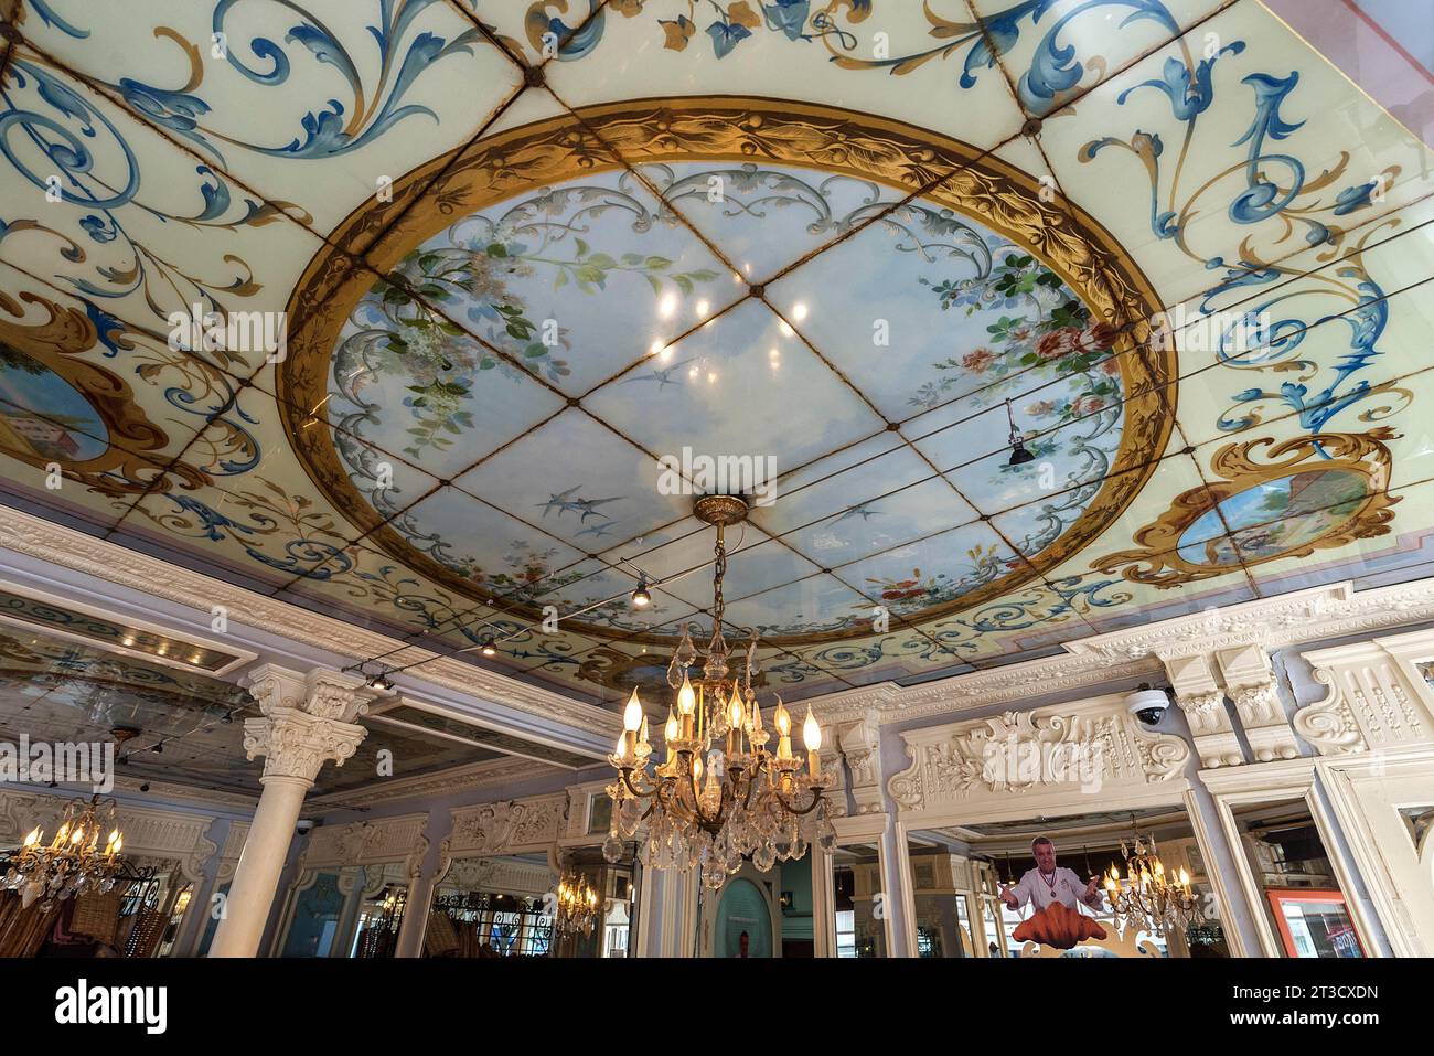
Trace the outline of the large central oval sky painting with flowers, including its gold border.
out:
<instances>
[{"instance_id":1,"label":"large central oval sky painting with flowers, including its gold border","mask_svg":"<svg viewBox=\"0 0 1434 1056\"><path fill-rule=\"evenodd\" d=\"M1071 238L1068 215L1040 222L1050 207L1035 178L893 122L674 100L660 105L664 135L635 138L652 106L515 129L397 181L402 195L442 174L371 253L383 278L323 258L310 265L293 314L321 321L282 364L288 430L310 476L367 539L528 620L556 594L565 610L587 610L564 621L575 633L677 634L677 623L651 628L621 601L604 604L617 591L602 577L584 594L584 561L615 562L609 551L681 521L690 499L654 494L657 459L675 459L678 439L727 451L763 419L780 428L806 379L779 372L794 372L799 356L812 363L813 402L840 374L879 416L833 406L810 439L780 436L794 449L784 458L802 465L859 439L839 432L847 418L870 418L868 435L915 419L912 432L938 436L926 475L949 469L981 509L1020 506L1004 524L1014 550L952 537L935 564L893 548L853 565L902 620L1028 584L1124 511L1149 476L1147 452L1170 432L1153 393L1174 376L1173 353L1121 354L1143 334L1114 320L1150 319L1157 300L1098 225ZM615 143L628 165L598 143ZM952 175L912 197L921 166ZM333 242L367 227L360 211ZM782 264L803 250L822 257L799 288ZM723 258L737 261L736 274ZM827 320L807 317L804 288ZM895 319L906 330L875 356L817 339L826 359L783 357L789 319L813 331L840 331L846 319ZM718 395L714 382L737 374L741 354L770 366L771 383ZM1004 443L1012 390L1035 459L964 463L962 443ZM314 407L327 429L301 410ZM954 407L971 425L952 426ZM1030 504L1038 473L1051 478L1050 498ZM915 538L931 514L921 501L909 489L868 504L813 545L839 550L853 532ZM939 512L946 525L969 517L979 528L971 511ZM812 598L783 603L753 623L773 644L870 634L870 604L855 593L847 611L823 604L813 621L810 608Z\"/></svg>"}]
</instances>

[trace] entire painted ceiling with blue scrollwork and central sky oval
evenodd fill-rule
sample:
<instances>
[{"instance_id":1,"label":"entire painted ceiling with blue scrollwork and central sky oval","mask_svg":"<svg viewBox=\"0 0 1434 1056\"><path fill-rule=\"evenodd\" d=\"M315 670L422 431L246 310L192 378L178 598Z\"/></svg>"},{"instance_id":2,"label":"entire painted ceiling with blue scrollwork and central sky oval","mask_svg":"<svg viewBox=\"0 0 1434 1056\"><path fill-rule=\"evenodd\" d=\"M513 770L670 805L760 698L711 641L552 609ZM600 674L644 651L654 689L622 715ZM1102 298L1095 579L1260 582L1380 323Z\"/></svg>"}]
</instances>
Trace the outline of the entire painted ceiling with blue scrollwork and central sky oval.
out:
<instances>
[{"instance_id":1,"label":"entire painted ceiling with blue scrollwork and central sky oval","mask_svg":"<svg viewBox=\"0 0 1434 1056\"><path fill-rule=\"evenodd\" d=\"M1430 572L1434 76L1369 6L0 11L20 509L607 703L706 626L703 456L773 471L789 697Z\"/></svg>"}]
</instances>

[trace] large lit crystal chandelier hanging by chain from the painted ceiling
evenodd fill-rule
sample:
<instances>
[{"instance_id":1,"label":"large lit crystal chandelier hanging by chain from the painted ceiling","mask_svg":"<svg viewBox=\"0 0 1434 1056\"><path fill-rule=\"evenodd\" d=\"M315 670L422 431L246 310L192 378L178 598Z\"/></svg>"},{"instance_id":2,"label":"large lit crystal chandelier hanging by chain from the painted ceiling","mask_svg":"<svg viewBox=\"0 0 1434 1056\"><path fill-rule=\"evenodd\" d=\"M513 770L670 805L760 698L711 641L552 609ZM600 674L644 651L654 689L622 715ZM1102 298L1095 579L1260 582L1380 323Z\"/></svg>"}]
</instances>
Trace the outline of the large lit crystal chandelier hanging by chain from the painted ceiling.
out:
<instances>
[{"instance_id":1,"label":"large lit crystal chandelier hanging by chain from the painted ceiling","mask_svg":"<svg viewBox=\"0 0 1434 1056\"><path fill-rule=\"evenodd\" d=\"M727 572L724 529L747 517L747 504L733 495L697 501L698 519L717 528L713 572L713 630L706 649L693 646L688 628L667 669L675 704L668 706L664 759L652 759L647 719L634 689L624 713L617 750L608 756L618 781L608 786L612 824L602 854L622 857L622 841L644 824L638 854L658 869L698 869L716 891L750 857L766 872L777 859L793 861L810 842L830 849L836 829L827 818L832 776L822 773L822 729L807 709L803 725L806 759L792 752L792 716L777 697L771 736L751 689L757 634L747 644L741 671L728 676L731 650L723 637L721 584ZM693 677L690 669L701 660Z\"/></svg>"}]
</instances>

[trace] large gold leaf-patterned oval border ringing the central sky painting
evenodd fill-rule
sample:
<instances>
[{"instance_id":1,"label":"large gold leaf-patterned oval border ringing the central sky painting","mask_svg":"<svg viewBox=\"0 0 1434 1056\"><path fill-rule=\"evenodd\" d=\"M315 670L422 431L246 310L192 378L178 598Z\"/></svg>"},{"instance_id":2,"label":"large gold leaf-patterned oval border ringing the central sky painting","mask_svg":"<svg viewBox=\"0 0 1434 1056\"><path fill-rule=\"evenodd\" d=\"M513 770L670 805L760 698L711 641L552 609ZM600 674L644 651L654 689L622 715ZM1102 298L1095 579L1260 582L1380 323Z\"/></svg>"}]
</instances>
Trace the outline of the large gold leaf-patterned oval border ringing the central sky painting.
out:
<instances>
[{"instance_id":1,"label":"large gold leaf-patterned oval border ringing the central sky painting","mask_svg":"<svg viewBox=\"0 0 1434 1056\"><path fill-rule=\"evenodd\" d=\"M1120 449L1081 515L1020 570L903 623L949 617L1020 588L1067 561L1124 512L1166 449L1177 369L1169 343L1150 341L1160 300L1114 237L1077 207L1043 201L1034 176L969 143L833 106L736 96L587 106L575 116L513 128L435 158L394 181L391 202L370 201L350 214L310 261L288 304L290 354L278 372L278 396L290 440L310 478L384 552L460 595L490 603L486 591L389 528L348 479L328 429L305 428L327 397L330 356L344 320L377 274L387 274L457 217L625 165L750 161L870 179L903 195L919 191L923 201L979 221L1060 275L1097 319L1116 327L1114 352L1130 353L1120 359L1126 393ZM358 255L367 267L356 263ZM541 618L536 607L518 608ZM571 630L597 638L668 641L602 626L574 624ZM773 636L769 641L797 646L856 637L870 637L870 631Z\"/></svg>"}]
</instances>

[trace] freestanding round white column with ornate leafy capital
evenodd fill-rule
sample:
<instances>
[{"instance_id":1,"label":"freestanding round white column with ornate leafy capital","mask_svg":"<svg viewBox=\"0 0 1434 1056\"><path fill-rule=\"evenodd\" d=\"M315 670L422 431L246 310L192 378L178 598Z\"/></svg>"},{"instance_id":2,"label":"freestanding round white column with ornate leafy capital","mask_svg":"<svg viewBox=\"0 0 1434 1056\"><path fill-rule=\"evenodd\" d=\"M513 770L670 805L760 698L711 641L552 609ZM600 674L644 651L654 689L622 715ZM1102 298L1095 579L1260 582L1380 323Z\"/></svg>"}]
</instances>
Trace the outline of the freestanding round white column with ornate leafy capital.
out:
<instances>
[{"instance_id":1,"label":"freestanding round white column with ornate leafy capital","mask_svg":"<svg viewBox=\"0 0 1434 1056\"><path fill-rule=\"evenodd\" d=\"M354 719L377 693L357 674L314 669L307 674L261 664L244 686L262 717L245 719L244 750L264 756L258 809L239 854L211 957L254 957L278 888L304 795L328 760L343 766L367 730Z\"/></svg>"}]
</instances>

